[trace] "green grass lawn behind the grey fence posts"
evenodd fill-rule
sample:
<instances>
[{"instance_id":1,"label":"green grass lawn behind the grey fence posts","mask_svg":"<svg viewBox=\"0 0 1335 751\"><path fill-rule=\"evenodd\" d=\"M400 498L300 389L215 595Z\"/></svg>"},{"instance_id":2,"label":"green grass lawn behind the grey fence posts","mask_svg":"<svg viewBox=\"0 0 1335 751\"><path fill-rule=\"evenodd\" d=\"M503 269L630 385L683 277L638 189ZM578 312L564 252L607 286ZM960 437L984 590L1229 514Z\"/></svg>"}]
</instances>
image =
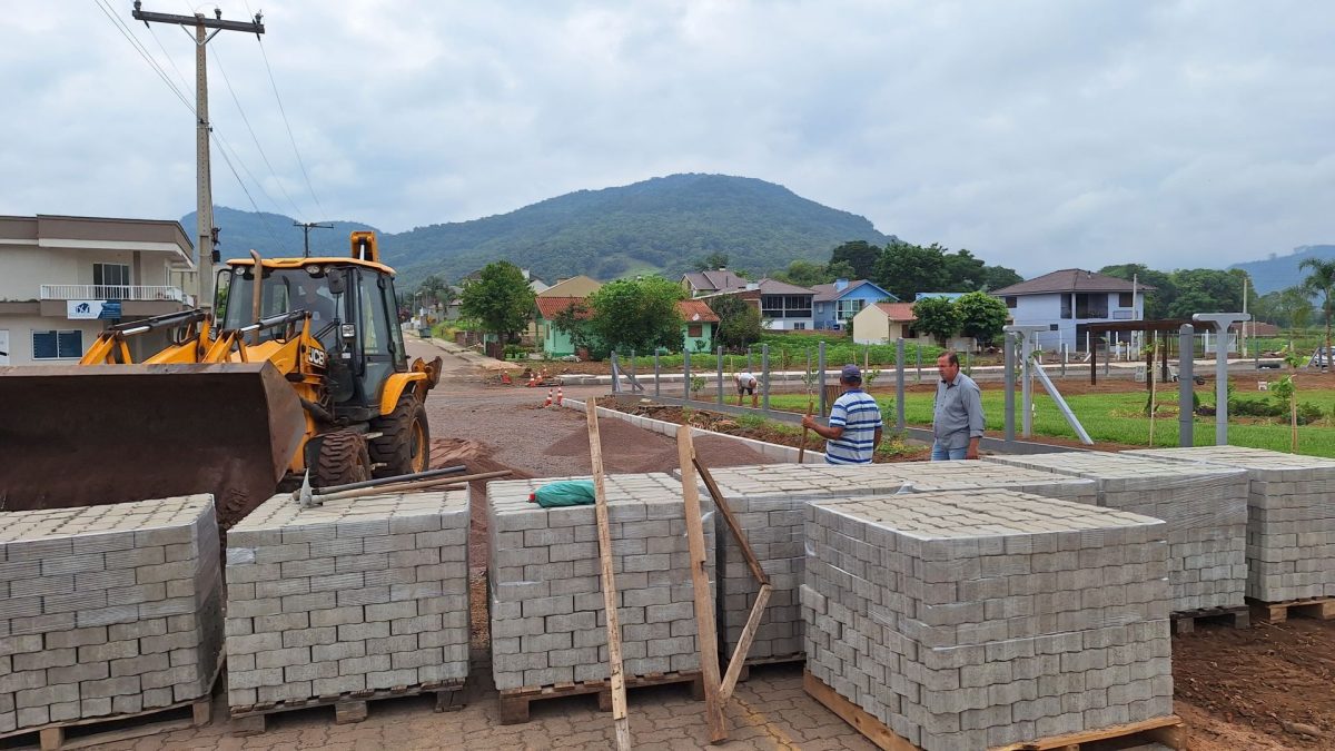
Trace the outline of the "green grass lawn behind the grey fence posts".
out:
<instances>
[{"instance_id":1,"label":"green grass lawn behind the grey fence posts","mask_svg":"<svg viewBox=\"0 0 1335 751\"><path fill-rule=\"evenodd\" d=\"M1197 392L1200 393L1200 392ZM1214 393L1200 393L1206 404L1214 402ZM876 401L881 405L881 413L886 424L894 424L894 396L884 393L876 394ZM1095 441L1113 444L1127 444L1133 446L1149 445L1149 420L1144 416L1147 392L1127 392L1121 394L1083 394L1065 397L1071 410L1084 425L1089 437ZM1240 394L1239 398L1259 400L1264 394ZM1274 400L1274 397L1271 397ZM1335 409L1335 390L1311 390L1298 393L1299 401L1312 402L1320 406L1327 414ZM1160 392L1157 397L1159 417L1155 420L1155 446L1177 445L1177 389ZM1020 410L1020 394L1015 396L1016 410ZM806 410L805 394L772 394L769 404L774 409L790 412ZM1169 412L1171 408L1171 412ZM983 412L987 416L988 430L1005 430L1005 394L997 388L984 388ZM932 425L932 394L909 393L905 394L904 421L910 426L928 428ZM1020 432L1020 416L1016 414L1016 434ZM1033 394L1033 433L1035 436L1056 436L1063 438L1076 438L1075 430L1067 425L1061 410L1056 402L1035 385ZM1215 442L1215 418L1197 417L1193 432L1197 446L1210 446ZM1272 449L1288 452L1290 428L1287 420L1262 421L1248 418L1246 422L1231 421L1228 426L1228 442L1235 446L1252 446L1258 449ZM1335 430L1330 417L1319 424L1298 426L1298 453L1308 456L1322 456L1335 458Z\"/></svg>"}]
</instances>

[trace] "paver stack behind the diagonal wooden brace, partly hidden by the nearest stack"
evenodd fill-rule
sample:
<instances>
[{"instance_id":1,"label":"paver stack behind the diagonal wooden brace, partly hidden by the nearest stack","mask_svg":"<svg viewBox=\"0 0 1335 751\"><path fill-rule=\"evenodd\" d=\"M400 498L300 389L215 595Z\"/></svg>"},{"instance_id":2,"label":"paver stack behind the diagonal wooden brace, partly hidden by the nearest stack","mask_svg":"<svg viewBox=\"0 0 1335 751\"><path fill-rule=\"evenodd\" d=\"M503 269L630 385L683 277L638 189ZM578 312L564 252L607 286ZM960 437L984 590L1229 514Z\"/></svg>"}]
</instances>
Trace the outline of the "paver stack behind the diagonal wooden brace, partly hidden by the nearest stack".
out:
<instances>
[{"instance_id":1,"label":"paver stack behind the diagonal wooden brace, partly hidden by the nearest stack","mask_svg":"<svg viewBox=\"0 0 1335 751\"><path fill-rule=\"evenodd\" d=\"M802 581L802 513L808 502L898 492L985 488L1009 488L1076 502L1093 504L1096 500L1095 484L1089 480L979 461L862 466L770 464L720 468L710 470L710 474L737 516L773 587L769 605L748 652L753 660L797 657L804 649L797 588ZM708 497L704 485L701 493ZM760 585L746 565L741 545L722 518L716 520L716 533L720 539L720 625L724 647L730 651L741 637Z\"/></svg>"}]
</instances>

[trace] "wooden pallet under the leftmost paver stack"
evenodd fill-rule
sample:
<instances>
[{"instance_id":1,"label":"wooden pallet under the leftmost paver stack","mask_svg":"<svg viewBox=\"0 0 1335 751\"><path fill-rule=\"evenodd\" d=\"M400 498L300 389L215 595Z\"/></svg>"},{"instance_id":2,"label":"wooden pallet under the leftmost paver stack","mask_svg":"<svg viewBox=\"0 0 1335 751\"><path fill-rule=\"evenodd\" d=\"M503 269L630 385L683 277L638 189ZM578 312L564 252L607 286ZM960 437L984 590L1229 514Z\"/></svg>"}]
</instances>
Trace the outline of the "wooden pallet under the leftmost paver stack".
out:
<instances>
[{"instance_id":1,"label":"wooden pallet under the leftmost paver stack","mask_svg":"<svg viewBox=\"0 0 1335 751\"><path fill-rule=\"evenodd\" d=\"M25 727L0 734L0 740L36 734L41 751L72 751L73 748L88 748L91 746L101 746L103 743L158 735L159 732L203 727L214 719L214 687L218 684L218 676L222 673L222 669L223 661L220 657L218 667L214 668L214 678L208 682L208 692L198 699L176 702L166 707L154 707L139 712ZM24 743L19 744L27 746Z\"/></svg>"}]
</instances>

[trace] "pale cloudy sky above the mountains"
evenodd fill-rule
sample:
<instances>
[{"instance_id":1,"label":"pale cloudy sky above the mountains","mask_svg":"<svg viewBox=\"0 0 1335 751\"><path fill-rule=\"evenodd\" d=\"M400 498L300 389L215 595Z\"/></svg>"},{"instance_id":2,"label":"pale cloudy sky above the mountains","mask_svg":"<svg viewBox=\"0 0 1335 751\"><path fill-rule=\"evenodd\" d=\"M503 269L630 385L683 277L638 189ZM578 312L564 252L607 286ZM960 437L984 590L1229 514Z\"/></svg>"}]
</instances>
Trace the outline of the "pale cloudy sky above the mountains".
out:
<instances>
[{"instance_id":1,"label":"pale cloudy sky above the mountains","mask_svg":"<svg viewBox=\"0 0 1335 751\"><path fill-rule=\"evenodd\" d=\"M236 208L402 231L693 171L1031 275L1335 242L1335 3L216 7L267 31L208 45ZM192 40L128 0L7 11L0 214L194 210L194 115L146 60L192 104Z\"/></svg>"}]
</instances>

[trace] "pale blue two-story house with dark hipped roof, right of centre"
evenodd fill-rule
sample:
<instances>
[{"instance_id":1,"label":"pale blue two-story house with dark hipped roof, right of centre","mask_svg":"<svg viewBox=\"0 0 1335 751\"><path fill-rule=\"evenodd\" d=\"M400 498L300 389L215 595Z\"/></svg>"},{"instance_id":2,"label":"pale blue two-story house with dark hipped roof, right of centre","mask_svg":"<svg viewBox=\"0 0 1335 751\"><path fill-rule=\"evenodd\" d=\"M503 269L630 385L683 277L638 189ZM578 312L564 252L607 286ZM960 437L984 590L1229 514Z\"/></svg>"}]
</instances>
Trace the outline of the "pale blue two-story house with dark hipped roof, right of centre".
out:
<instances>
[{"instance_id":1,"label":"pale blue two-story house with dark hipped roof, right of centre","mask_svg":"<svg viewBox=\"0 0 1335 751\"><path fill-rule=\"evenodd\" d=\"M1088 343L1097 346L1096 337L1087 337L1085 325L1144 319L1147 291L1153 287L1084 269L1063 269L992 294L1005 302L1011 323L1048 327L1037 335L1040 347L1055 351L1064 343L1068 351L1085 351ZM1131 334L1120 337L1127 341Z\"/></svg>"}]
</instances>

